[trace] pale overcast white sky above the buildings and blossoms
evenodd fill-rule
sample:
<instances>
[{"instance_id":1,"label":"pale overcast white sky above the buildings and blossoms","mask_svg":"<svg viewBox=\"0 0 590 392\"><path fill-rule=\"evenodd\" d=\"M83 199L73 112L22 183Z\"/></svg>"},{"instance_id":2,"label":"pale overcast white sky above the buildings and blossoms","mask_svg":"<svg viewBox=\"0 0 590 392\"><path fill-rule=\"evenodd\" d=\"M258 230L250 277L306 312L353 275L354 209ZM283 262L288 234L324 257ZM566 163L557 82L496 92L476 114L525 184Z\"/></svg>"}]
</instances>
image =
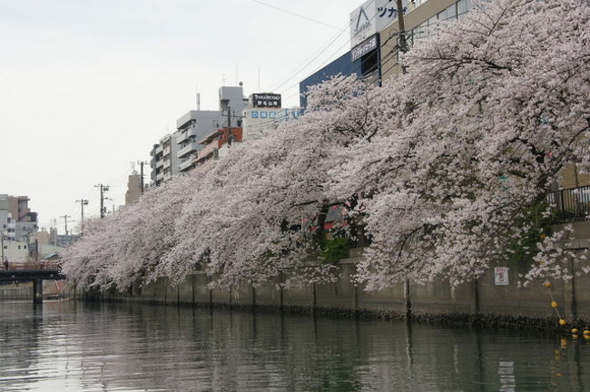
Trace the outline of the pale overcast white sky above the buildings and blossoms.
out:
<instances>
[{"instance_id":1,"label":"pale overcast white sky above the buildings and blossoms","mask_svg":"<svg viewBox=\"0 0 590 392\"><path fill-rule=\"evenodd\" d=\"M263 3L320 23L256 0L0 0L0 193L63 233L76 200L98 214L97 183L124 203L131 162L195 109L196 85L217 110L223 78L257 93L260 67L261 91L299 104L299 82L349 50L362 0Z\"/></svg>"}]
</instances>

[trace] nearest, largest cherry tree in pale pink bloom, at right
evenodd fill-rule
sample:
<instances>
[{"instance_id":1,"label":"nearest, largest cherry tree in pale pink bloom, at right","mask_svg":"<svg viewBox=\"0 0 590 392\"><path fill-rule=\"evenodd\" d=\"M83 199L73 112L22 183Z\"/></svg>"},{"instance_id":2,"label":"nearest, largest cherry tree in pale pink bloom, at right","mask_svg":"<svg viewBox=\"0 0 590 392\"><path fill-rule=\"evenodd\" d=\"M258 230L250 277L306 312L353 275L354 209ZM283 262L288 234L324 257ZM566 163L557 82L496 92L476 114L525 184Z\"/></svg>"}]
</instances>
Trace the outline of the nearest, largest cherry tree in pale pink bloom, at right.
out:
<instances>
[{"instance_id":1,"label":"nearest, largest cherry tree in pale pink bloom, at right","mask_svg":"<svg viewBox=\"0 0 590 392\"><path fill-rule=\"evenodd\" d=\"M473 279L519 247L540 250L528 279L567 277L573 255L562 244L547 258L554 237L542 240L538 217L565 164L588 167L588 5L479 3L408 54L408 74L385 86L380 132L339 184L370 195L361 281Z\"/></svg>"}]
</instances>

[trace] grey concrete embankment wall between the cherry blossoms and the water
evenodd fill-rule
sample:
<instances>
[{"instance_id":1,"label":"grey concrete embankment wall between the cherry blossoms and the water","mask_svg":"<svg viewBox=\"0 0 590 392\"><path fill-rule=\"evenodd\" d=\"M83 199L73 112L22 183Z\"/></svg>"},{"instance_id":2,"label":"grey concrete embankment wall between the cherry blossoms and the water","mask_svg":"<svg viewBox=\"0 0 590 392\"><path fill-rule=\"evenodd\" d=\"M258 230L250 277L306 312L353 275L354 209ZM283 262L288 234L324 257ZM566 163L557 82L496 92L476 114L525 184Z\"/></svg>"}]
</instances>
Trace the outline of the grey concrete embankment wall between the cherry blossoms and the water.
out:
<instances>
[{"instance_id":1,"label":"grey concrete embankment wall between the cherry blossoms and the water","mask_svg":"<svg viewBox=\"0 0 590 392\"><path fill-rule=\"evenodd\" d=\"M341 260L340 279L336 283L311 284L300 288L283 289L279 283L286 277L253 288L243 284L231 289L209 289L210 278L194 272L174 287L169 279L159 279L143 287L134 286L127 292L109 290L101 293L84 292L69 288L66 295L72 298L140 301L162 304L205 306L257 307L282 310L315 310L343 314L367 314L382 317L404 317L407 307L416 318L424 319L478 319L493 324L514 322L519 318L545 319L555 324L556 311L551 300L559 303L559 311L568 321L590 320L590 275L575 276L571 281L557 280L552 289L543 287L543 281L534 281L527 287L518 285L519 271L510 268L508 284L496 284L494 269L490 269L477 282L451 286L445 281L425 285L409 283L408 294L403 282L389 289L368 291L355 285L351 277L359 257ZM573 264L574 270L580 266ZM506 320L506 321L503 321ZM526 320L524 323L528 322Z\"/></svg>"}]
</instances>

